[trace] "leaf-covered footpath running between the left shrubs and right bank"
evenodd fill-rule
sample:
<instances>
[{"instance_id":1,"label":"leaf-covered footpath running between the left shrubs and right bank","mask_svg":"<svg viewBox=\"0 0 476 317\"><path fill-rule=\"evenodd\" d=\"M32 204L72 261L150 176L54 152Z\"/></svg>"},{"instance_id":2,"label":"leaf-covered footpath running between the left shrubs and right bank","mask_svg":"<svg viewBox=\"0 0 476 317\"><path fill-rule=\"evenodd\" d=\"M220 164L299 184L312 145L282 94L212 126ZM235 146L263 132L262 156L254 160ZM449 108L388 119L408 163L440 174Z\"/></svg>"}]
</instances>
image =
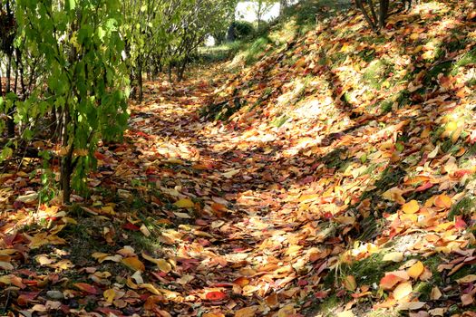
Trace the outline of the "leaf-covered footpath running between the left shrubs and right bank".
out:
<instances>
[{"instance_id":1,"label":"leaf-covered footpath running between the left shrubs and right bank","mask_svg":"<svg viewBox=\"0 0 476 317\"><path fill-rule=\"evenodd\" d=\"M313 268L309 256L317 254L309 246L318 236L286 194L293 176L276 169L288 168L279 147L284 141L250 138L199 119L213 88L206 82L152 88L146 106L131 116L129 135L138 152L131 179L155 181L172 199L196 203L163 209L171 226L161 232L170 240L162 242L171 248L160 252L177 263L178 274L164 278L186 306L201 302L188 315L240 308L244 316L279 308L291 315L301 291L318 281L306 275Z\"/></svg>"}]
</instances>

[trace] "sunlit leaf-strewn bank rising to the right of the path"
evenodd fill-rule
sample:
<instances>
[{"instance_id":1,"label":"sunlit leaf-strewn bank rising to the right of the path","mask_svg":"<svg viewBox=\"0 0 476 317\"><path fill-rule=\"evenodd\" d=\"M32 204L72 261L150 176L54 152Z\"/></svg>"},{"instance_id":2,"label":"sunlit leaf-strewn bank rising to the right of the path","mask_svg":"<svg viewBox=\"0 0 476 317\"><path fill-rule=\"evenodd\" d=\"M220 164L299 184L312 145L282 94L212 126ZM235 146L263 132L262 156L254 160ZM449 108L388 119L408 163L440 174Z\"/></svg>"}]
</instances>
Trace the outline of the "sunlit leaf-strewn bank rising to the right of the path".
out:
<instances>
[{"instance_id":1,"label":"sunlit leaf-strewn bank rising to the right of the path","mask_svg":"<svg viewBox=\"0 0 476 317\"><path fill-rule=\"evenodd\" d=\"M471 310L474 5L425 1L379 35L355 10L334 13L304 36L281 24L202 114L222 121L237 152L272 158L250 159L250 182L313 228L314 241L287 247L309 252L304 289L316 283L318 312L334 315L337 299L357 315L368 304Z\"/></svg>"}]
</instances>

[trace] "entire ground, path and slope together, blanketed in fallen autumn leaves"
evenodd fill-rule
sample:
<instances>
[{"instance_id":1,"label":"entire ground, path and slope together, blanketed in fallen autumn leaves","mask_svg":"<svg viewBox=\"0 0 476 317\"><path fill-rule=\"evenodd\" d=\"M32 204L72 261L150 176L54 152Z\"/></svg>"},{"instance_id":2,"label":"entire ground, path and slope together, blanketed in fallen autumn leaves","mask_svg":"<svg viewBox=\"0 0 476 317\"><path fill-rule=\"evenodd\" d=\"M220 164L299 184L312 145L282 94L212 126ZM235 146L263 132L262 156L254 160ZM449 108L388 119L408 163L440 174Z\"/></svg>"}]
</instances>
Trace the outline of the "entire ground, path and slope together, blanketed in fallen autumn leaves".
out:
<instances>
[{"instance_id":1,"label":"entire ground, path and slope together, blanketed in fallen autumn leaves","mask_svg":"<svg viewBox=\"0 0 476 317\"><path fill-rule=\"evenodd\" d=\"M319 10L147 82L73 207L10 161L0 313L475 316L474 4Z\"/></svg>"}]
</instances>

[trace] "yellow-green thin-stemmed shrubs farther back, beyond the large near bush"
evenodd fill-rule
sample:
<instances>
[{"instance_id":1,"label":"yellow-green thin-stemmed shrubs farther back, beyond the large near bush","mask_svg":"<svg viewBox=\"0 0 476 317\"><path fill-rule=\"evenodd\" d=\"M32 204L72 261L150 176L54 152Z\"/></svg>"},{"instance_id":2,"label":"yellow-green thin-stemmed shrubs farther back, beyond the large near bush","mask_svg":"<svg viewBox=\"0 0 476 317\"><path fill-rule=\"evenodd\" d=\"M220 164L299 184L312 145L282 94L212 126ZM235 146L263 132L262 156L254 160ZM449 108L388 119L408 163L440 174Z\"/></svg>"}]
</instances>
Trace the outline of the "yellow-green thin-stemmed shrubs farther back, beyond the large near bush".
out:
<instances>
[{"instance_id":1,"label":"yellow-green thin-stemmed shrubs farther back, beyond the large near bush","mask_svg":"<svg viewBox=\"0 0 476 317\"><path fill-rule=\"evenodd\" d=\"M225 37L238 0L124 0L126 63L141 101L142 76L168 72L180 81L207 35ZM221 34L221 35L220 35ZM137 92L137 93L136 93Z\"/></svg>"}]
</instances>

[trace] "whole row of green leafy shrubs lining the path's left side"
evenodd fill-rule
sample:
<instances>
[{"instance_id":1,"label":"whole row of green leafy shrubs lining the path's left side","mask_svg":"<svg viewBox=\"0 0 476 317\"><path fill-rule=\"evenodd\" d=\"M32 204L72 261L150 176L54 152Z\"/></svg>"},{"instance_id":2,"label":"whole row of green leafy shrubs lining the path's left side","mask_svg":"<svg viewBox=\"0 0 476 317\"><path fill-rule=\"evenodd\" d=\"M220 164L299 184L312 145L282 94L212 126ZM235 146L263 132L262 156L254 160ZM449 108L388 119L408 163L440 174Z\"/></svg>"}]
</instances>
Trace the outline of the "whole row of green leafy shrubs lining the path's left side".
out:
<instances>
[{"instance_id":1,"label":"whole row of green leafy shrubs lining the path's left side","mask_svg":"<svg viewBox=\"0 0 476 317\"><path fill-rule=\"evenodd\" d=\"M144 74L181 80L205 38L226 34L237 2L0 0L0 162L41 140L29 153L68 203L98 144L121 138L129 86L141 100Z\"/></svg>"}]
</instances>

